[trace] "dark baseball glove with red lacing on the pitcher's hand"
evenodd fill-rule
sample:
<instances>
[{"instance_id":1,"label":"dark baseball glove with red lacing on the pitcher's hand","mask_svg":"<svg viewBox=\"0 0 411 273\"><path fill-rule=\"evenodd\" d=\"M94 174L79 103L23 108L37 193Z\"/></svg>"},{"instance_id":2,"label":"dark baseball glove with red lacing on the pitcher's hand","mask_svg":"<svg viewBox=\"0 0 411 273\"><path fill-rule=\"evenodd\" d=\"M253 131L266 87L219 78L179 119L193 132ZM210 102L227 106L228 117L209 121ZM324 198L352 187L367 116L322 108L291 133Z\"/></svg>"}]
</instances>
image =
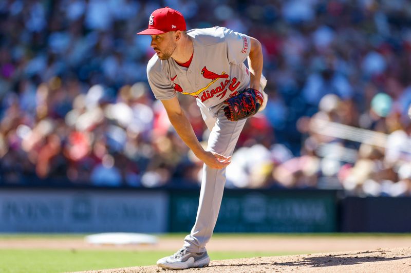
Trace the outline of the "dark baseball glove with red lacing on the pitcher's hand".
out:
<instances>
[{"instance_id":1,"label":"dark baseball glove with red lacing on the pitcher's hand","mask_svg":"<svg viewBox=\"0 0 411 273\"><path fill-rule=\"evenodd\" d=\"M263 101L263 95L258 90L247 88L225 101L224 114L231 121L248 118L258 112Z\"/></svg>"}]
</instances>

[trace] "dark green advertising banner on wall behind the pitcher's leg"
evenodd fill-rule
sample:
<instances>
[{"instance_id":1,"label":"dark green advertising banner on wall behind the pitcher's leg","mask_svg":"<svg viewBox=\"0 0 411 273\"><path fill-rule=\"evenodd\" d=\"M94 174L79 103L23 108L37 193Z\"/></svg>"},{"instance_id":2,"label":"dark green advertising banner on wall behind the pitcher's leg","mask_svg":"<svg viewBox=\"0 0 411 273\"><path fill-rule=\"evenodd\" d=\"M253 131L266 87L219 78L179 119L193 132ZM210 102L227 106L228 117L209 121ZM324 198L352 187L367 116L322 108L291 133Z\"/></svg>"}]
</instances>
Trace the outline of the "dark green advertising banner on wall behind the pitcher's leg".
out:
<instances>
[{"instance_id":1,"label":"dark green advertising banner on wall behind the pitcher's leg","mask_svg":"<svg viewBox=\"0 0 411 273\"><path fill-rule=\"evenodd\" d=\"M198 191L171 195L172 232L189 232ZM228 191L222 199L215 232L335 232L334 191Z\"/></svg>"}]
</instances>

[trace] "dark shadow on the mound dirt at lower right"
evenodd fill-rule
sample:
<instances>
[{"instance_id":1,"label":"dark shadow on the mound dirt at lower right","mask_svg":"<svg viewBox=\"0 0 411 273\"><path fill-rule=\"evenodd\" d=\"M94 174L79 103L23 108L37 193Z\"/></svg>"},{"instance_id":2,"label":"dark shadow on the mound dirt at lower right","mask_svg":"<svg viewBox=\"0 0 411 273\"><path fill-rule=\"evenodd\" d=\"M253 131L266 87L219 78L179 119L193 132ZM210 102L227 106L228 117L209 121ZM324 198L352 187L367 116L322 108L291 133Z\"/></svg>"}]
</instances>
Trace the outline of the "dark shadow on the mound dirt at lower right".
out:
<instances>
[{"instance_id":1,"label":"dark shadow on the mound dirt at lower right","mask_svg":"<svg viewBox=\"0 0 411 273\"><path fill-rule=\"evenodd\" d=\"M377 256L380 254L381 256ZM302 261L294 261L287 263L274 263L274 265L289 265L289 266L311 266L311 267L323 267L323 266L334 266L334 265L351 265L360 264L368 262L379 262L379 261L394 261L400 259L411 258L409 255L403 255L401 257L391 257L386 258L383 255L386 254L385 251L363 251L356 254L340 254L340 255L327 255L320 257L304 257Z\"/></svg>"}]
</instances>

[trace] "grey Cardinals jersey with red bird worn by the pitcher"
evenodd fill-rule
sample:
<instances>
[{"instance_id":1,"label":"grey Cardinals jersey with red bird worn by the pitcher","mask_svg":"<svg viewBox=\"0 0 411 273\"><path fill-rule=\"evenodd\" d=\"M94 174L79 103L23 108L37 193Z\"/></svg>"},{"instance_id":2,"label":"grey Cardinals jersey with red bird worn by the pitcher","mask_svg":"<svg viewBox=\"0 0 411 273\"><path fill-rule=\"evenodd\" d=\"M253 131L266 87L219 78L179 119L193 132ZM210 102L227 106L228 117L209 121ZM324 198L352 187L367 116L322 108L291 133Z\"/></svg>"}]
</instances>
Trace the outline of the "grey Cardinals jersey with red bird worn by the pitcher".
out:
<instances>
[{"instance_id":1,"label":"grey Cardinals jersey with red bird worn by the pitcher","mask_svg":"<svg viewBox=\"0 0 411 273\"><path fill-rule=\"evenodd\" d=\"M250 53L249 36L222 27L192 29L187 34L194 46L188 68L156 54L148 62L147 78L157 99L171 99L180 92L212 108L250 86L244 64Z\"/></svg>"}]
</instances>

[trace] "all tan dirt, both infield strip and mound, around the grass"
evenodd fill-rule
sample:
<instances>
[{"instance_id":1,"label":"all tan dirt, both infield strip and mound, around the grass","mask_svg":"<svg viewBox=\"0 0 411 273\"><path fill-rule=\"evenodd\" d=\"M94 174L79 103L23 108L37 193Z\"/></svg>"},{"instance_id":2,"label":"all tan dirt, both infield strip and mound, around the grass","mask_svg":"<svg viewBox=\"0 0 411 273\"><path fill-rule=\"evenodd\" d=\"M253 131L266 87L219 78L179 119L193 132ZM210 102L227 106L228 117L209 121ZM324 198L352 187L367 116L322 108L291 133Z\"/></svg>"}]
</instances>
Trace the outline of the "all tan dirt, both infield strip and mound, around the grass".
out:
<instances>
[{"instance_id":1,"label":"all tan dirt, both infield strip and mound, around the grass","mask_svg":"<svg viewBox=\"0 0 411 273\"><path fill-rule=\"evenodd\" d=\"M3 238L0 249L166 250L173 254L183 236L159 237L156 245L89 245L82 238ZM213 251L273 251L304 255L212 260L210 266L182 272L411 272L411 236L244 236L220 235L208 244ZM310 254L308 254L310 253ZM161 258L161 257L159 257ZM166 273L156 266L84 271L87 273Z\"/></svg>"}]
</instances>

